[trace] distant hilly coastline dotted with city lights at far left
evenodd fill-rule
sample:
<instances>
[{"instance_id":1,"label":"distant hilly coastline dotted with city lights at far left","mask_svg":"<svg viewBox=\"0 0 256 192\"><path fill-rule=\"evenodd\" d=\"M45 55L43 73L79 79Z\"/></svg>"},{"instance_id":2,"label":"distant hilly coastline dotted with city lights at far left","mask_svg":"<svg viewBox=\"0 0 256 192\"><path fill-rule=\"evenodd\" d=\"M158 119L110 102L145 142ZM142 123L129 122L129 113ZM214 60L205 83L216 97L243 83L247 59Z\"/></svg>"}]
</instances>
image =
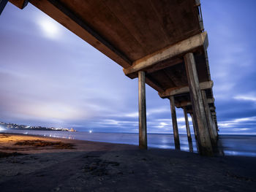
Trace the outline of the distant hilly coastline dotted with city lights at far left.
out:
<instances>
[{"instance_id":1,"label":"distant hilly coastline dotted with city lights at far left","mask_svg":"<svg viewBox=\"0 0 256 192\"><path fill-rule=\"evenodd\" d=\"M18 125L16 123L4 123L4 122L0 122L0 128L4 128L7 130L31 130L31 131L72 131L72 132L76 131L74 128L27 126L27 125Z\"/></svg>"}]
</instances>

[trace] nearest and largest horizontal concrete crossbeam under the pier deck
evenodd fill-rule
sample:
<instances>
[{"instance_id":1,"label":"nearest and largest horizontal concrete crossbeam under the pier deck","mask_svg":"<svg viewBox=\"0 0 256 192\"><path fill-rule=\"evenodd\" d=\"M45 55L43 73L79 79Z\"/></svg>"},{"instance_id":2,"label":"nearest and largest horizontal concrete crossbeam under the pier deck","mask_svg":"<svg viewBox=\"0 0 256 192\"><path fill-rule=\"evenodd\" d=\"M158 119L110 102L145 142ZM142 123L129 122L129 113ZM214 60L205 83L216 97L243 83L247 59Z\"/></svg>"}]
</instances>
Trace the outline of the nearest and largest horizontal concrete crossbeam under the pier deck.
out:
<instances>
[{"instance_id":1,"label":"nearest and largest horizontal concrete crossbeam under the pier deck","mask_svg":"<svg viewBox=\"0 0 256 192\"><path fill-rule=\"evenodd\" d=\"M186 53L194 52L197 49L206 50L208 47L208 36L206 32L196 34L193 37L189 37L175 45L170 45L162 50L159 50L151 55L147 55L144 58L140 58L132 63L132 66L124 69L124 74L128 77L134 77L131 74L139 71L146 71L146 69L159 64L162 61L170 58L180 57Z\"/></svg>"}]
</instances>

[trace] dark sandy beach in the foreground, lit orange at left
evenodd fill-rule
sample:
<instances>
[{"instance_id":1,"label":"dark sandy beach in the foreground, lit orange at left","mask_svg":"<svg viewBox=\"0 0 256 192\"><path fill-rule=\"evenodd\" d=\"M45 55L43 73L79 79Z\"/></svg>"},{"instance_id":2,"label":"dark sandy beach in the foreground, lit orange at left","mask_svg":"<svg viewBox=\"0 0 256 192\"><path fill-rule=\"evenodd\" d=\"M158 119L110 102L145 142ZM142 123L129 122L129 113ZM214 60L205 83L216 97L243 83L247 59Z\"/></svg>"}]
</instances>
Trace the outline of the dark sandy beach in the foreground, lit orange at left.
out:
<instances>
[{"instance_id":1,"label":"dark sandy beach in the foreground, lit orange at left","mask_svg":"<svg viewBox=\"0 0 256 192\"><path fill-rule=\"evenodd\" d=\"M207 158L176 150L17 134L0 134L0 151L1 192L256 189L256 158L251 157Z\"/></svg>"}]
</instances>

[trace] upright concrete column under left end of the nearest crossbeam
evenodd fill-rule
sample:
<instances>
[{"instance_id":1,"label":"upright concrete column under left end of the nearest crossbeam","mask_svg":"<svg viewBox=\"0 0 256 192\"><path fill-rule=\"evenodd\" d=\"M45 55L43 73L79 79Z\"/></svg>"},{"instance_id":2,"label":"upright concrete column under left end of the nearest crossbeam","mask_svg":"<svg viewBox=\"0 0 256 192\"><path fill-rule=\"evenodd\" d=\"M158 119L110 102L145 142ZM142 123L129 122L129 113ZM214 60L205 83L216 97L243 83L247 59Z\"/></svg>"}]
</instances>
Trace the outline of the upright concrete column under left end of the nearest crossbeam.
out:
<instances>
[{"instance_id":1,"label":"upright concrete column under left end of the nearest crossbeam","mask_svg":"<svg viewBox=\"0 0 256 192\"><path fill-rule=\"evenodd\" d=\"M138 72L139 81L139 147L147 149L147 126L146 126L146 90L145 72Z\"/></svg>"}]
</instances>

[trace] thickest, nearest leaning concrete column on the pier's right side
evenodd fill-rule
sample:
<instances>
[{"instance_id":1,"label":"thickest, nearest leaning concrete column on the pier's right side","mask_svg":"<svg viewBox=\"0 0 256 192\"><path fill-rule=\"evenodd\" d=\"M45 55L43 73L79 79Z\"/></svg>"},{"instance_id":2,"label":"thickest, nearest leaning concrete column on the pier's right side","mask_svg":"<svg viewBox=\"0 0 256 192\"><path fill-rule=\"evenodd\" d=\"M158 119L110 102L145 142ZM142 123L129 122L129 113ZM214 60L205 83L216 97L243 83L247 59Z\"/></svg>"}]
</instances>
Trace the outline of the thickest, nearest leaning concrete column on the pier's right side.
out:
<instances>
[{"instance_id":1,"label":"thickest, nearest leaning concrete column on the pier's right side","mask_svg":"<svg viewBox=\"0 0 256 192\"><path fill-rule=\"evenodd\" d=\"M193 115L195 115L195 125L197 126L198 147L201 155L213 155L211 146L211 138L208 132L206 121L206 112L203 106L203 99L200 92L197 69L193 53L184 55L184 61L187 72L187 80L189 82L189 93L192 101Z\"/></svg>"}]
</instances>

